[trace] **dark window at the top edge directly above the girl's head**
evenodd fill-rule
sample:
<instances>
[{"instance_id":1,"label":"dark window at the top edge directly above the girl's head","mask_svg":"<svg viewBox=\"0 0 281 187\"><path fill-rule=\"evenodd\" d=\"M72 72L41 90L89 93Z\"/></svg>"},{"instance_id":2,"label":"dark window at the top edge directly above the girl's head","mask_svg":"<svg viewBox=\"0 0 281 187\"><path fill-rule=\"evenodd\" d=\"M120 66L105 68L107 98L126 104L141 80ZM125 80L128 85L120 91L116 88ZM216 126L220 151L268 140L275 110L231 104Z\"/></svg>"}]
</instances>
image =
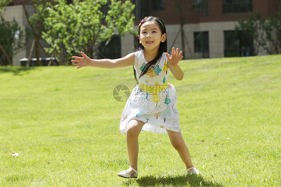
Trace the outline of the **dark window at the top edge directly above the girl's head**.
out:
<instances>
[{"instance_id":1,"label":"dark window at the top edge directly above the girl's head","mask_svg":"<svg viewBox=\"0 0 281 187\"><path fill-rule=\"evenodd\" d=\"M135 4L135 20L140 21L145 16L148 16L150 14L149 0L133 0L133 4Z\"/></svg>"}]
</instances>

